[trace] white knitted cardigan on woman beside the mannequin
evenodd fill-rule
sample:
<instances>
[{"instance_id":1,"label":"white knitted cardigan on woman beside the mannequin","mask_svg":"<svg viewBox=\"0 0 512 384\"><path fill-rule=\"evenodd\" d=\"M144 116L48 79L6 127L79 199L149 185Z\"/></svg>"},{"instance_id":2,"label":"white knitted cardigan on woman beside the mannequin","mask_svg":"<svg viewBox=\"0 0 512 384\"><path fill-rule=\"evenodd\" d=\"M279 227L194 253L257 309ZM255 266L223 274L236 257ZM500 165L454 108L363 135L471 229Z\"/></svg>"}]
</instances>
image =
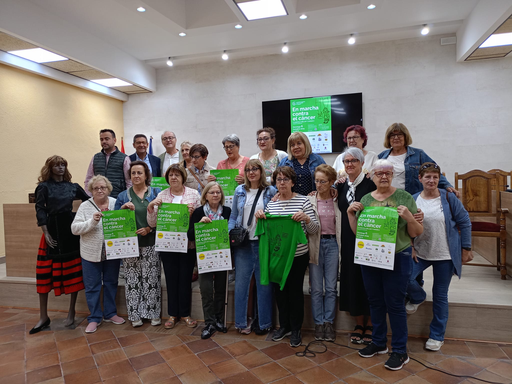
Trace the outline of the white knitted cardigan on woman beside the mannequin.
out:
<instances>
[{"instance_id":1,"label":"white knitted cardigan on woman beside the mannequin","mask_svg":"<svg viewBox=\"0 0 512 384\"><path fill-rule=\"evenodd\" d=\"M109 210L114 210L116 199L109 197ZM93 215L98 210L93 205L93 198L80 204L76 211L75 220L71 224L71 232L80 235L80 254L87 261L100 262L101 248L103 247L102 219L96 221Z\"/></svg>"}]
</instances>

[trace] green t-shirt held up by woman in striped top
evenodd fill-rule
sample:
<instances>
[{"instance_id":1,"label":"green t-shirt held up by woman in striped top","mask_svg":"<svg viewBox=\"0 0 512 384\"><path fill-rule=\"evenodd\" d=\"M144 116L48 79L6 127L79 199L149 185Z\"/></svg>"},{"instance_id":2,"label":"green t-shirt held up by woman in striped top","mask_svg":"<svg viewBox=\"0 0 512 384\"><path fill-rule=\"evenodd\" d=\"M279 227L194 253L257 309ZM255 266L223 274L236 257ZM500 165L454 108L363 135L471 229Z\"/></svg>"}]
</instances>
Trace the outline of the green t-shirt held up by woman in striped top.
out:
<instances>
[{"instance_id":1,"label":"green t-shirt held up by woman in striped top","mask_svg":"<svg viewBox=\"0 0 512 384\"><path fill-rule=\"evenodd\" d=\"M308 240L301 223L291 219L293 215L265 216L266 220L258 220L254 233L260 238L260 284L279 283L283 290L297 244Z\"/></svg>"}]
</instances>

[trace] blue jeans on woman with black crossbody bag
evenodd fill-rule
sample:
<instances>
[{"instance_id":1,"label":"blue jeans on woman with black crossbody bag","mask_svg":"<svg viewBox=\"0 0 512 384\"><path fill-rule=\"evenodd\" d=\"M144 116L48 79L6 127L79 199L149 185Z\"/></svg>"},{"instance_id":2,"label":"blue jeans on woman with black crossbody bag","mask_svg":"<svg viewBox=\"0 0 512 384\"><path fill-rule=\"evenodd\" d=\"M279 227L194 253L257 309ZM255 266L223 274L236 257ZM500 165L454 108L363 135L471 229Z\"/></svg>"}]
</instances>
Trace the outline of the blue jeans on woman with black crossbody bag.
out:
<instances>
[{"instance_id":1,"label":"blue jeans on woman with black crossbody bag","mask_svg":"<svg viewBox=\"0 0 512 384\"><path fill-rule=\"evenodd\" d=\"M249 240L246 246L234 247L237 278L234 280L234 326L247 327L247 303L252 274L256 279L260 328L272 326L272 284L260 284L259 240Z\"/></svg>"}]
</instances>

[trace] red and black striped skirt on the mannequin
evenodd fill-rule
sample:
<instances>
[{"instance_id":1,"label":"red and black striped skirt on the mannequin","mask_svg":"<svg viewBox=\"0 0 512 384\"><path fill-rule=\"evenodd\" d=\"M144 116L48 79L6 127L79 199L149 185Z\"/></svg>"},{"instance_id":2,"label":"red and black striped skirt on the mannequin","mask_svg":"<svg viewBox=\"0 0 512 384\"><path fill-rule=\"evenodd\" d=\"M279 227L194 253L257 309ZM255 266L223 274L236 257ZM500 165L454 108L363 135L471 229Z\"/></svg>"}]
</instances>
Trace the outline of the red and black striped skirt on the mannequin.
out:
<instances>
[{"instance_id":1,"label":"red and black striped skirt on the mannequin","mask_svg":"<svg viewBox=\"0 0 512 384\"><path fill-rule=\"evenodd\" d=\"M37 252L37 293L48 293L53 289L55 296L60 296L84 289L80 251L48 254L47 250L43 234Z\"/></svg>"}]
</instances>

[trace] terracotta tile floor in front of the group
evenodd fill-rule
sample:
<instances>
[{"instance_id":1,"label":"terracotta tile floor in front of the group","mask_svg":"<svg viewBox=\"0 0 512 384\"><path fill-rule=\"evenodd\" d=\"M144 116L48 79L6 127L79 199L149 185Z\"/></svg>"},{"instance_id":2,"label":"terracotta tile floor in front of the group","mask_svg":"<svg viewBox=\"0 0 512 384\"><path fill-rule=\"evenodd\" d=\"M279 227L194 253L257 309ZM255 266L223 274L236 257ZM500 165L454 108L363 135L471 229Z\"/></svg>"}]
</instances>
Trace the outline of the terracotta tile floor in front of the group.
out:
<instances>
[{"instance_id":1,"label":"terracotta tile floor in front of the group","mask_svg":"<svg viewBox=\"0 0 512 384\"><path fill-rule=\"evenodd\" d=\"M325 353L300 357L289 340L270 341L268 335L241 335L233 326L227 333L208 340L198 328L144 323L103 323L92 334L84 333L87 322L69 331L48 331L29 335L38 311L0 307L0 382L94 384L330 384L399 383L459 384L481 383L475 378L454 377L411 360L404 369L384 368L388 355L362 358L351 349L326 343ZM64 314L53 312L52 321ZM313 336L304 331L303 340ZM349 343L346 333L336 342ZM512 382L512 346L447 340L440 352L423 349L425 340L409 339L409 356L427 366L456 375L471 375L500 383ZM321 346L312 349L322 351Z\"/></svg>"}]
</instances>

